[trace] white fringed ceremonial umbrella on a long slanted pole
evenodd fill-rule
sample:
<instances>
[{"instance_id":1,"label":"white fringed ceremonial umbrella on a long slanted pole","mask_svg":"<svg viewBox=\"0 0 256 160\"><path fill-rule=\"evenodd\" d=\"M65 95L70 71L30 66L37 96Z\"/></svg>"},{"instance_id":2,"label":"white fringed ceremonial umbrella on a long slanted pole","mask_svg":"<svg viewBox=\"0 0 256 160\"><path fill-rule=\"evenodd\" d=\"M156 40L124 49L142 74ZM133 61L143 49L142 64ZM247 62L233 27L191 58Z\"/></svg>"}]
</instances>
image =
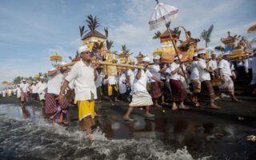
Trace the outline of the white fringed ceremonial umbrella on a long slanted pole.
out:
<instances>
[{"instance_id":1,"label":"white fringed ceremonial umbrella on a long slanted pole","mask_svg":"<svg viewBox=\"0 0 256 160\"><path fill-rule=\"evenodd\" d=\"M177 54L178 61L181 62L179 56L176 44L174 43L174 40L170 33L170 22L174 21L176 18L178 18L178 8L170 5L165 5L162 2L159 2L156 0L157 6L154 7L154 12L151 14L150 17L150 30L154 30L158 28L159 26L166 25L167 31L170 36L170 41L172 42L174 46L175 53ZM183 67L181 67L183 74L185 75L185 72L183 70Z\"/></svg>"}]
</instances>

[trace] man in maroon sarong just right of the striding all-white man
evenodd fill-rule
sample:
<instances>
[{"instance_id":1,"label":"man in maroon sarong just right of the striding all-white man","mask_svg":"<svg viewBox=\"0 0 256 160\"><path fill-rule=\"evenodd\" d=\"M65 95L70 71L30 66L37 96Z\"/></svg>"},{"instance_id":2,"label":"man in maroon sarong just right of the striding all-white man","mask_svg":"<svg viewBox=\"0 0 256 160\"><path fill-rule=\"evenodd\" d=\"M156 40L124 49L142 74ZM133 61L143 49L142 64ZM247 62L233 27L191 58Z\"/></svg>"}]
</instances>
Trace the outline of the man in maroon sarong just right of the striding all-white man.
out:
<instances>
[{"instance_id":1,"label":"man in maroon sarong just right of the striding all-white man","mask_svg":"<svg viewBox=\"0 0 256 160\"><path fill-rule=\"evenodd\" d=\"M160 56L155 55L153 59L154 64L150 66L150 72L154 75L154 77L160 79ZM150 79L150 86L151 86L151 94L154 101L155 107L162 107L158 105L158 98L162 97L162 86L160 82L155 81L154 79Z\"/></svg>"}]
</instances>

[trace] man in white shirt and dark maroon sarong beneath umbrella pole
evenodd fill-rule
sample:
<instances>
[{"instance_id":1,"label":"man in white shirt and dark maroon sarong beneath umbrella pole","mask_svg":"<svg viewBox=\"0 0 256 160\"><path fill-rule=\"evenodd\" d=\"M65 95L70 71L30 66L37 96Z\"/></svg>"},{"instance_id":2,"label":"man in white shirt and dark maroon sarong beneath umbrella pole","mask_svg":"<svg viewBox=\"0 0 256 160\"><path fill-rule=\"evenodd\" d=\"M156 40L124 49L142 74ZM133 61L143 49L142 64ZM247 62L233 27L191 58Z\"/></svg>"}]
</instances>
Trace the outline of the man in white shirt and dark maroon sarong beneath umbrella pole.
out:
<instances>
[{"instance_id":1,"label":"man in white shirt and dark maroon sarong beneath umbrella pole","mask_svg":"<svg viewBox=\"0 0 256 160\"><path fill-rule=\"evenodd\" d=\"M176 56L174 62L170 64L170 89L173 98L172 110L187 110L189 107L184 105L184 100L186 99L186 90L182 86L181 76L185 77L183 74L184 70L180 66L179 59L182 58L182 55ZM177 106L177 103L180 103Z\"/></svg>"}]
</instances>

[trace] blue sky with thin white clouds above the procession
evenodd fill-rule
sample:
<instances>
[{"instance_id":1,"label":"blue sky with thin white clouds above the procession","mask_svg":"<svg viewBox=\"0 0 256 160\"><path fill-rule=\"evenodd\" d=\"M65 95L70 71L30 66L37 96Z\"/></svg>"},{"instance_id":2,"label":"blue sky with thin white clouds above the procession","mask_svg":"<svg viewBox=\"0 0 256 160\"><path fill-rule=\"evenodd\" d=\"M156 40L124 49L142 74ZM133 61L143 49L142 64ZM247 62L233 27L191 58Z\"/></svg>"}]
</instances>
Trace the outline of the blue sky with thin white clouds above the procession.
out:
<instances>
[{"instance_id":1,"label":"blue sky with thin white clouds above the procession","mask_svg":"<svg viewBox=\"0 0 256 160\"><path fill-rule=\"evenodd\" d=\"M255 0L159 1L178 8L178 18L170 27L184 26L192 38L200 38L202 30L214 24L209 46L222 45L220 39L226 38L227 31L248 40L256 37L246 33L256 24ZM109 28L112 50L126 44L134 56L142 51L152 57L161 48L152 37L164 31L164 27L149 30L154 6L155 0L0 0L0 82L46 73L55 52L69 62L68 57L74 57L82 45L78 26L87 25L89 14L97 16L102 34L104 27Z\"/></svg>"}]
</instances>

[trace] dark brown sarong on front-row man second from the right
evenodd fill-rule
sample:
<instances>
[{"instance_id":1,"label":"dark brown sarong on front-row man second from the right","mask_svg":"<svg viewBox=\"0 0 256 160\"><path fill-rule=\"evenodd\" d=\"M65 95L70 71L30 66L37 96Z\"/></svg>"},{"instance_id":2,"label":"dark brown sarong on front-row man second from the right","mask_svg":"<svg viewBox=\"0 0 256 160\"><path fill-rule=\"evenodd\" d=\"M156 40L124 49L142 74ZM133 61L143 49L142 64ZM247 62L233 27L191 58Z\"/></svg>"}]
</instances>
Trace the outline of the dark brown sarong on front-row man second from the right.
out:
<instances>
[{"instance_id":1,"label":"dark brown sarong on front-row man second from the right","mask_svg":"<svg viewBox=\"0 0 256 160\"><path fill-rule=\"evenodd\" d=\"M214 102L215 94L211 82L206 80L201 82L201 93L199 96L200 102Z\"/></svg>"}]
</instances>

